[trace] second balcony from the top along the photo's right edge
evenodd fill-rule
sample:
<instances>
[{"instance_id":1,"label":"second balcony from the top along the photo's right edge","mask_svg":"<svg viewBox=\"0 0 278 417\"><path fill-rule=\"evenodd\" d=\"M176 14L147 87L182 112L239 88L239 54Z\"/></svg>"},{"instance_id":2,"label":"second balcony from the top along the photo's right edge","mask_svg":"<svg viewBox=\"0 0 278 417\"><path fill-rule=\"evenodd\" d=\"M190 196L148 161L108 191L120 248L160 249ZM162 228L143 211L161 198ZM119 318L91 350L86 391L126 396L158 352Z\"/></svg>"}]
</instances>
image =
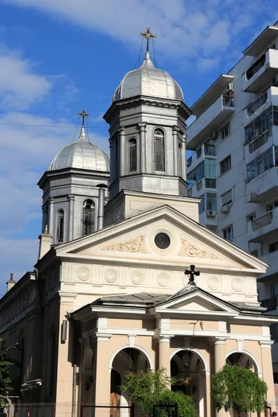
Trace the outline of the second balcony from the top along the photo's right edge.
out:
<instances>
[{"instance_id":1,"label":"second balcony from the top along the photo's right edge","mask_svg":"<svg viewBox=\"0 0 278 417\"><path fill-rule=\"evenodd\" d=\"M253 120L263 113L263 111L271 104L272 106L278 106L278 87L275 87L274 85L268 88L259 99L256 99L256 101L253 101L253 103L245 108L243 111L244 126L253 122Z\"/></svg>"}]
</instances>

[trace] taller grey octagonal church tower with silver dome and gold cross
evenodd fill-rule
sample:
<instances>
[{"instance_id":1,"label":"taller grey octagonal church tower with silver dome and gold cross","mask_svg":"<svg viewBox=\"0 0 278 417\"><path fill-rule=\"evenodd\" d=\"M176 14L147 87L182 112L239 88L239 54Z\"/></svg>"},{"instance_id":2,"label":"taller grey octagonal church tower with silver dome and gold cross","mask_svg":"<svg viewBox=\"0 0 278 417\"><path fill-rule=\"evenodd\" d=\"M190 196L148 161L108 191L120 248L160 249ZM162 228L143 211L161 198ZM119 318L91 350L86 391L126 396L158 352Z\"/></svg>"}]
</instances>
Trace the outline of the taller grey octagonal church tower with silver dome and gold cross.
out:
<instances>
[{"instance_id":1,"label":"taller grey octagonal church tower with silver dome and gold cross","mask_svg":"<svg viewBox=\"0 0 278 417\"><path fill-rule=\"evenodd\" d=\"M187 195L186 119L191 112L170 74L158 70L147 51L140 68L128 72L104 115L110 124L110 199L122 190Z\"/></svg>"}]
</instances>

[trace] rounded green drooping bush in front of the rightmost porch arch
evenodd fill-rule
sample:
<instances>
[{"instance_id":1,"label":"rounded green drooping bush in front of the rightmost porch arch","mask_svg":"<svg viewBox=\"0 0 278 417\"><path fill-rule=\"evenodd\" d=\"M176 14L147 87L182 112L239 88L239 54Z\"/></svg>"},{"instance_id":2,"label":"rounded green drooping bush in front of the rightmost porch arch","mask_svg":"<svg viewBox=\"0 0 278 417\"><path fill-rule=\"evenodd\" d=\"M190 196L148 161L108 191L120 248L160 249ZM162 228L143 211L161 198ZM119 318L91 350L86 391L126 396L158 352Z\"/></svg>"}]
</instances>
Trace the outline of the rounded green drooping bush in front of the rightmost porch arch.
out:
<instances>
[{"instance_id":1,"label":"rounded green drooping bush in front of the rightmost porch arch","mask_svg":"<svg viewBox=\"0 0 278 417\"><path fill-rule=\"evenodd\" d=\"M226 364L211 377L211 396L219 411L234 409L241 412L261 413L264 409L268 386L251 369Z\"/></svg>"}]
</instances>

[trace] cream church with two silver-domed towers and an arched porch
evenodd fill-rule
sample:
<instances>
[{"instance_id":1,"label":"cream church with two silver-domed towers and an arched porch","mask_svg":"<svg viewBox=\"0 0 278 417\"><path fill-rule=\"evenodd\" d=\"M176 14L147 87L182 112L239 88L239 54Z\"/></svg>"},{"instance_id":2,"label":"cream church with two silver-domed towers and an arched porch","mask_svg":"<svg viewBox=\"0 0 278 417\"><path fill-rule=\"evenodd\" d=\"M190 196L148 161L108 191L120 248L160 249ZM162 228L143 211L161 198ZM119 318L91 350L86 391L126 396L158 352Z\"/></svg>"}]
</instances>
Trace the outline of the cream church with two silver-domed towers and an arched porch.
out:
<instances>
[{"instance_id":1,"label":"cream church with two silver-domed towers and an arched porch","mask_svg":"<svg viewBox=\"0 0 278 417\"><path fill-rule=\"evenodd\" d=\"M189 115L147 51L104 115L110 165L83 123L40 179L39 259L0 300L3 343L19 347L19 401L72 404L73 417L80 403L128 405L124 372L165 368L191 377L186 393L209 417L211 375L228 361L258 373L275 404L277 320L256 291L268 265L199 224L200 199L187 196Z\"/></svg>"}]
</instances>

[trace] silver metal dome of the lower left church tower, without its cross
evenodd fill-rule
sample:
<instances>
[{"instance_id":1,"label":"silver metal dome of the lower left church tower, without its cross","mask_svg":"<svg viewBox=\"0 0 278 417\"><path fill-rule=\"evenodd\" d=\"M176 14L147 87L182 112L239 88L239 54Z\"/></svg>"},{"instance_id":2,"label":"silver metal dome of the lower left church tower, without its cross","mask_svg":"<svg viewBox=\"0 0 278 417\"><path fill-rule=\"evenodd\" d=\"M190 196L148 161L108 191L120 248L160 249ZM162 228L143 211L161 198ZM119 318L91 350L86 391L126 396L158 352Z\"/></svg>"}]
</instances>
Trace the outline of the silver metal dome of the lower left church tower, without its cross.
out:
<instances>
[{"instance_id":1,"label":"silver metal dome of the lower left church tower, without its cross","mask_svg":"<svg viewBox=\"0 0 278 417\"><path fill-rule=\"evenodd\" d=\"M66 145L58 152L49 166L49 171L73 167L83 170L109 171L109 156L88 141L82 127L79 140Z\"/></svg>"}]
</instances>

